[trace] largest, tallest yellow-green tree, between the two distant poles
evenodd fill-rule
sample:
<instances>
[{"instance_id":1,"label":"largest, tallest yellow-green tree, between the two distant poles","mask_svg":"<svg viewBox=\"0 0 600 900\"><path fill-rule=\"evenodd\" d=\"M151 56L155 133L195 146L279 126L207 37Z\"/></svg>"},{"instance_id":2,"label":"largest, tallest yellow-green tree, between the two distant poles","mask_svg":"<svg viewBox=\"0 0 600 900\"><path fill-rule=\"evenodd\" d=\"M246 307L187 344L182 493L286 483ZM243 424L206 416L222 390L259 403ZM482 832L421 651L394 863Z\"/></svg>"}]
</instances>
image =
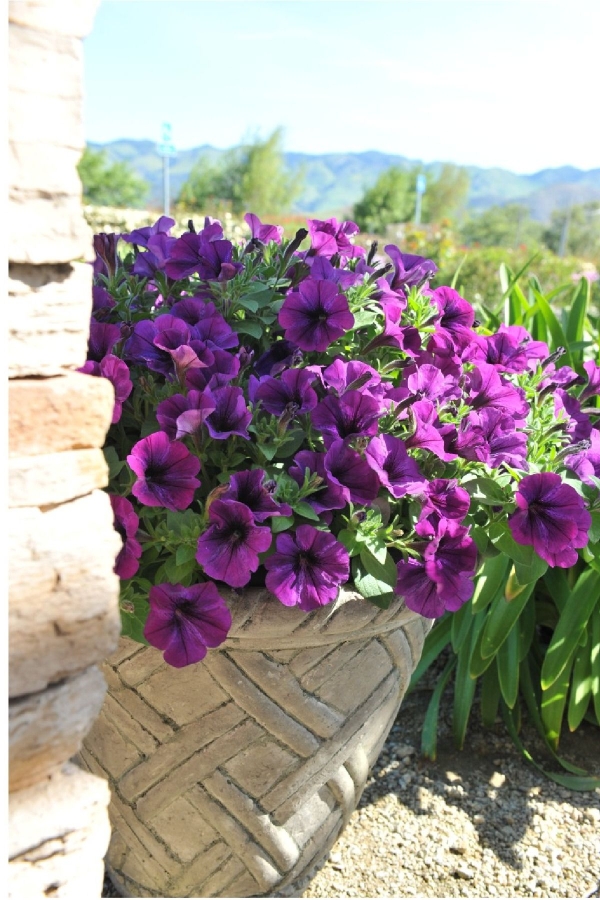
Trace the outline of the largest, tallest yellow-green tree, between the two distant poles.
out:
<instances>
[{"instance_id":1,"label":"largest, tallest yellow-green tree, between the two distant poles","mask_svg":"<svg viewBox=\"0 0 600 900\"><path fill-rule=\"evenodd\" d=\"M301 190L302 173L286 170L283 132L255 138L228 151L217 162L200 157L183 184L177 202L191 212L209 212L227 204L234 213L259 216L290 209Z\"/></svg>"}]
</instances>

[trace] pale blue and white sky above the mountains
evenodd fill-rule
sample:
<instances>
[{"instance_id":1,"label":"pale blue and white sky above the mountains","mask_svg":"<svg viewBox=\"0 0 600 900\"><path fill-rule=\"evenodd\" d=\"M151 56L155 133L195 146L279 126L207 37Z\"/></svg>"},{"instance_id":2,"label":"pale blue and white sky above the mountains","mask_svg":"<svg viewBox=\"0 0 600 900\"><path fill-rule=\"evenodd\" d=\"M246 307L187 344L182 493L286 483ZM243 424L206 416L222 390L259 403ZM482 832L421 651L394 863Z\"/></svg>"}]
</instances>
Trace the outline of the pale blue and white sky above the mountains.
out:
<instances>
[{"instance_id":1,"label":"pale blue and white sky above the mountains","mask_svg":"<svg viewBox=\"0 0 600 900\"><path fill-rule=\"evenodd\" d=\"M86 138L596 168L598 34L598 0L103 0Z\"/></svg>"}]
</instances>

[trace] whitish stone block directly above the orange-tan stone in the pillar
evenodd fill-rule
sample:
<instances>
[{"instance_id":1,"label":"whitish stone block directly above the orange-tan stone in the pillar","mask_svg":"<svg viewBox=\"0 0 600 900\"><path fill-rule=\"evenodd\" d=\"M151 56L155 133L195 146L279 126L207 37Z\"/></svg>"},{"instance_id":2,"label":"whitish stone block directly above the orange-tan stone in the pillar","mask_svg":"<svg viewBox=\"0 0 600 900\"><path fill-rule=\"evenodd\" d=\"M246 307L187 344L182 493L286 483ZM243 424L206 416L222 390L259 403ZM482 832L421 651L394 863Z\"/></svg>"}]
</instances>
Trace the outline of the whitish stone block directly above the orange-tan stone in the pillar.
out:
<instances>
[{"instance_id":1,"label":"whitish stone block directly above the orange-tan stone in the pillar","mask_svg":"<svg viewBox=\"0 0 600 900\"><path fill-rule=\"evenodd\" d=\"M28 205L28 216L47 210ZM12 215L12 214L11 214ZM60 209L52 216L61 220ZM25 228L11 219L12 227ZM10 264L8 373L11 378L61 375L85 362L92 311L92 267Z\"/></svg>"}]
</instances>

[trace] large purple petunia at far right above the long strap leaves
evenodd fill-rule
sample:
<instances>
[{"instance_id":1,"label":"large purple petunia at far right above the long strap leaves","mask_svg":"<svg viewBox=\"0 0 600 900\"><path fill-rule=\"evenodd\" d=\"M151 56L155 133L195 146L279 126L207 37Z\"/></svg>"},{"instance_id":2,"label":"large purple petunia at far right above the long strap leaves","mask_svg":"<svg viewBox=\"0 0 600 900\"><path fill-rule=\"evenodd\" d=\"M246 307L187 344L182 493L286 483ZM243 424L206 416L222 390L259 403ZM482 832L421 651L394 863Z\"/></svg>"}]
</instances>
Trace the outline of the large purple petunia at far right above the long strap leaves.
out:
<instances>
[{"instance_id":1,"label":"large purple petunia at far right above the long strap leaves","mask_svg":"<svg viewBox=\"0 0 600 900\"><path fill-rule=\"evenodd\" d=\"M508 517L517 544L532 546L549 566L568 568L585 547L592 517L575 488L555 472L526 475L515 494L517 509Z\"/></svg>"}]
</instances>

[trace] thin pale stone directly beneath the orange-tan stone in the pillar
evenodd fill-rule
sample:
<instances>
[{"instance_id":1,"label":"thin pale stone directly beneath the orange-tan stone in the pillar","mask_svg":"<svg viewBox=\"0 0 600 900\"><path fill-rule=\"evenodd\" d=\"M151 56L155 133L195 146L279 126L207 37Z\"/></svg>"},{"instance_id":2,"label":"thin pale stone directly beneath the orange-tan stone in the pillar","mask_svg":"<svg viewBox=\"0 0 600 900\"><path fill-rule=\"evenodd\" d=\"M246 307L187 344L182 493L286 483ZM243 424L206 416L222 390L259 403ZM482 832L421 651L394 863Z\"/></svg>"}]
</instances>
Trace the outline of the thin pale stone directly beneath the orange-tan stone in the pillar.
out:
<instances>
[{"instance_id":1,"label":"thin pale stone directly beneath the orange-tan stone in the pillar","mask_svg":"<svg viewBox=\"0 0 600 900\"><path fill-rule=\"evenodd\" d=\"M99 449L13 457L8 476L8 505L13 509L66 503L108 484L108 469Z\"/></svg>"}]
</instances>

